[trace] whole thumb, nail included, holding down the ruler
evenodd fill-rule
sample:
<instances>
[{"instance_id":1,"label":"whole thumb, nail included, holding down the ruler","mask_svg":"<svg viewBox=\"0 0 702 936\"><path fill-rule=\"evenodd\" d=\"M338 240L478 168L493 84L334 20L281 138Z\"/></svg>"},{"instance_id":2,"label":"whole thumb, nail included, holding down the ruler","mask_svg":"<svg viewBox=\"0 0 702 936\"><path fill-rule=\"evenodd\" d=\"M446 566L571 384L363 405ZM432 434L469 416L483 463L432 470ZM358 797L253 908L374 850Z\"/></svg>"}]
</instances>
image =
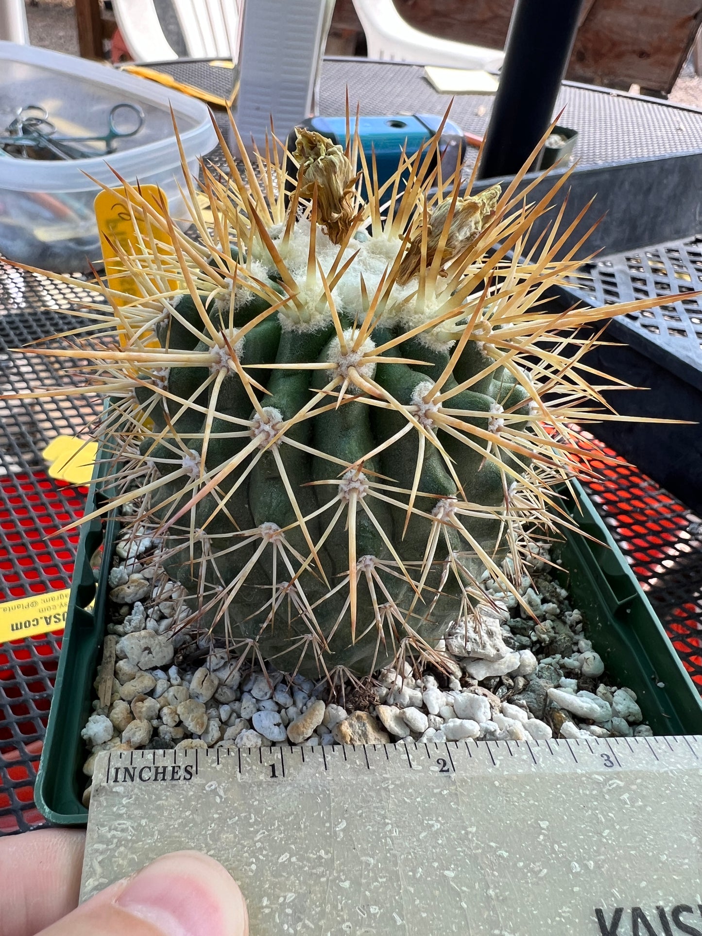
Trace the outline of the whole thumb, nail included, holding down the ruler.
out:
<instances>
[{"instance_id":1,"label":"whole thumb, nail included, holding down the ruler","mask_svg":"<svg viewBox=\"0 0 702 936\"><path fill-rule=\"evenodd\" d=\"M227 871L175 852L81 904L37 936L248 936L246 904Z\"/></svg>"}]
</instances>

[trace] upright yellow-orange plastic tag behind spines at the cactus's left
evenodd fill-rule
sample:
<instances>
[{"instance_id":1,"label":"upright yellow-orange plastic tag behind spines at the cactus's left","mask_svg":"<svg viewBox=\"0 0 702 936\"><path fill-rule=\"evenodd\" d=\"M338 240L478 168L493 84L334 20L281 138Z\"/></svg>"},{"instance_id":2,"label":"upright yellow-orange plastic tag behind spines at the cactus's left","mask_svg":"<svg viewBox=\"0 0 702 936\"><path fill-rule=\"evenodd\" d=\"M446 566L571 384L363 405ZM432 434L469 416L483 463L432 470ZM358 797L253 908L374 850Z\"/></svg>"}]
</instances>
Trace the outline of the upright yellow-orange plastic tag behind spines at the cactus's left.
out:
<instances>
[{"instance_id":1,"label":"upright yellow-orange plastic tag behind spines at the cactus's left","mask_svg":"<svg viewBox=\"0 0 702 936\"><path fill-rule=\"evenodd\" d=\"M158 211L168 211L168 198L163 189L158 185L148 184L140 185L139 192L141 197ZM127 275L124 266L117 253L117 246L125 254L134 254L139 251L139 241L136 236L132 215L126 209L122 201L115 197L121 195L124 197L124 188L105 189L95 196L95 219L97 221L97 230L100 235L100 246L102 247L102 256L105 261L105 273L107 274L110 289L117 289L120 292L127 293L129 296L139 296L139 289L134 281L134 277ZM146 239L146 225L142 219L137 219L137 227L143 238ZM160 243L172 244L168 231L161 227L152 226L154 239ZM171 289L178 287L176 280L168 280ZM128 299L117 300L118 305L126 305ZM124 335L120 333L120 340L125 344ZM144 342L149 347L158 347L155 337L150 341Z\"/></svg>"}]
</instances>

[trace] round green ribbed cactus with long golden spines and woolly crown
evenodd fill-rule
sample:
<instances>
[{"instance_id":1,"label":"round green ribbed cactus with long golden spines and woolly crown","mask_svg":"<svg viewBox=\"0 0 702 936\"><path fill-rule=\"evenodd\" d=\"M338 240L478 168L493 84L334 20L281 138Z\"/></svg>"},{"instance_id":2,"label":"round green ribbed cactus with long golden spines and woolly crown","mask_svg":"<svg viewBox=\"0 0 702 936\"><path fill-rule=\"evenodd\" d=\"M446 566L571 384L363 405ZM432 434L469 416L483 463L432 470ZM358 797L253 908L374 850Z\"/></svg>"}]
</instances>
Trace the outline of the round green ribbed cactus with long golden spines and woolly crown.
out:
<instances>
[{"instance_id":1,"label":"round green ribbed cactus with long golden spines and woolly crown","mask_svg":"<svg viewBox=\"0 0 702 936\"><path fill-rule=\"evenodd\" d=\"M94 362L111 506L139 502L191 620L287 672L436 660L486 572L521 600L508 569L558 513L573 423L614 418L576 332L634 303L549 313L575 225L526 246L568 173L534 205L523 173L461 195L439 136L380 189L351 135L241 146L243 175L220 137L228 172L203 165L198 193L186 171L194 237L125 185L139 296L89 284L80 347L51 350Z\"/></svg>"}]
</instances>

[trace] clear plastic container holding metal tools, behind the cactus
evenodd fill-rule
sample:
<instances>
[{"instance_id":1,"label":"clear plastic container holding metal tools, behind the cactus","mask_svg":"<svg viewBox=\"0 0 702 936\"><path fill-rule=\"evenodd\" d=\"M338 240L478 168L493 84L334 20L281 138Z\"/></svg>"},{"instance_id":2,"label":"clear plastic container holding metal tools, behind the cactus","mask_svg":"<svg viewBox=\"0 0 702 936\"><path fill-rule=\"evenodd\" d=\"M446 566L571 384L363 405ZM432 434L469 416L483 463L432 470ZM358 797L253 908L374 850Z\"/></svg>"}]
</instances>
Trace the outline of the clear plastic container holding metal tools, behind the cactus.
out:
<instances>
[{"instance_id":1,"label":"clear plastic container holding metal tools, behind the cactus","mask_svg":"<svg viewBox=\"0 0 702 936\"><path fill-rule=\"evenodd\" d=\"M170 107L183 140L188 168L217 143L207 107L154 81L109 66L32 46L0 42L0 132L20 108L38 105L63 137L102 137L115 104L138 105L144 123L133 137L117 139L115 151L95 144L95 157L21 159L0 152L0 254L56 272L87 272L100 263L93 202L101 183L155 183L168 196L175 218L183 215L178 183L180 156ZM125 116L128 117L128 114Z\"/></svg>"}]
</instances>

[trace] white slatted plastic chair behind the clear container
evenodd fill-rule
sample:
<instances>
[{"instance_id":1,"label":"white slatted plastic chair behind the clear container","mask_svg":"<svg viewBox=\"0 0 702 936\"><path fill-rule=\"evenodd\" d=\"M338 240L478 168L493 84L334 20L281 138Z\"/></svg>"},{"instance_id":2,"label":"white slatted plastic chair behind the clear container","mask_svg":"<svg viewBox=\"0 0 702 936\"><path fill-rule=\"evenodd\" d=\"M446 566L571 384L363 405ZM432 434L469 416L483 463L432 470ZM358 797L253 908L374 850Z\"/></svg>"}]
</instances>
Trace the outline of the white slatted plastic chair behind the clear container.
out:
<instances>
[{"instance_id":1,"label":"white slatted plastic chair behind the clear container","mask_svg":"<svg viewBox=\"0 0 702 936\"><path fill-rule=\"evenodd\" d=\"M3 0L0 0L2 3ZM237 58L241 0L173 0L191 58ZM177 59L158 21L154 0L112 0L124 45L137 62Z\"/></svg>"}]
</instances>

